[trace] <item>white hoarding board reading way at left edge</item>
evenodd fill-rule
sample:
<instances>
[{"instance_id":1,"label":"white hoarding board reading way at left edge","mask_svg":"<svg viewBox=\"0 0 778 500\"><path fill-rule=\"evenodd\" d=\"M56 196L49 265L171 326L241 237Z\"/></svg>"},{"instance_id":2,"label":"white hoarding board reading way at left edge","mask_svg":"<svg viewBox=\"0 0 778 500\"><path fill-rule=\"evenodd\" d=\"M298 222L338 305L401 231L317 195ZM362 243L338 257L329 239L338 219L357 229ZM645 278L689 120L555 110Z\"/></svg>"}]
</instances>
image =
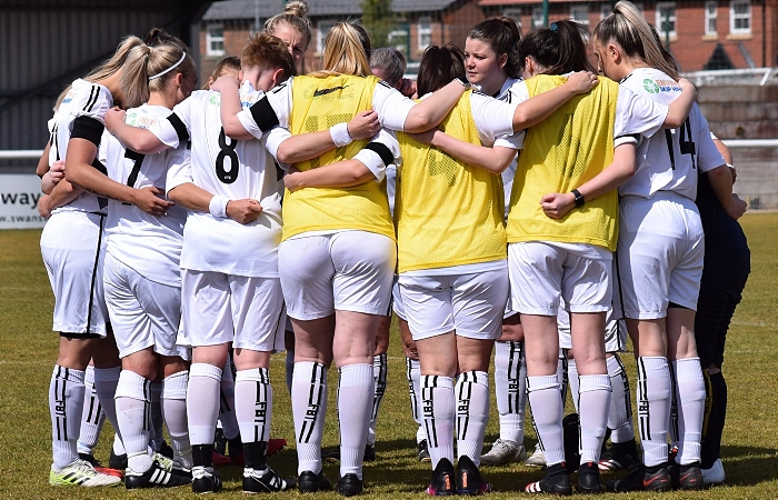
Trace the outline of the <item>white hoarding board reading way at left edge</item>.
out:
<instances>
[{"instance_id":1,"label":"white hoarding board reading way at left edge","mask_svg":"<svg viewBox=\"0 0 778 500\"><path fill-rule=\"evenodd\" d=\"M42 228L40 179L34 173L0 174L0 229Z\"/></svg>"}]
</instances>

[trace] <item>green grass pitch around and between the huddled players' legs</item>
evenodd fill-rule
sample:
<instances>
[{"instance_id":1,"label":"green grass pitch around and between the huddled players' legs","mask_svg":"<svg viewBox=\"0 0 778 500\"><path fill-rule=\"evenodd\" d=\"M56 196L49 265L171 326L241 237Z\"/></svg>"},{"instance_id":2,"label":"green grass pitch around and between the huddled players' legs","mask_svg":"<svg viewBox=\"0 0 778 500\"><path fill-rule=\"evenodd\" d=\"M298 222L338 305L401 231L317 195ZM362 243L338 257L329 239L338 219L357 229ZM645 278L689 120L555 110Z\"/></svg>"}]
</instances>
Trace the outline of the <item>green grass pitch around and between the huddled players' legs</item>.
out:
<instances>
[{"instance_id":1,"label":"green grass pitch around and between the huddled players' legs","mask_svg":"<svg viewBox=\"0 0 778 500\"><path fill-rule=\"evenodd\" d=\"M666 499L775 499L778 498L778 404L776 403L775 360L778 356L778 213L749 213L741 220L751 248L752 272L738 308L727 342L725 373L729 386L727 428L722 457L727 486L695 493L662 493ZM188 488L131 491L123 488L88 490L51 488L51 426L48 387L57 356L57 337L51 329L53 298L41 262L40 231L0 231L0 499L120 499L191 498ZM393 326L395 327L395 326ZM378 460L365 467L370 496L376 498L425 498L429 466L416 461L415 424L410 417L405 361L397 331L392 331L389 351L389 389L378 424ZM635 380L630 356L624 357ZM335 392L337 373L330 373L330 403L323 440L326 449L338 444ZM296 474L293 426L289 397L283 386L283 354L272 359L271 377L276 387L273 437L286 438L290 446L270 459L282 474ZM492 404L487 442L498 436L497 411ZM112 432L107 424L96 451L108 459ZM535 436L527 430L526 444ZM219 498L243 498L240 470L222 468L225 492ZM537 469L523 466L483 468L497 492L507 499L519 496L523 486L540 478ZM337 466L325 472L337 479ZM609 479L605 476L604 479ZM299 497L297 492L278 498ZM340 498L320 493L313 498ZM649 493L609 494L604 498L652 498Z\"/></svg>"}]
</instances>

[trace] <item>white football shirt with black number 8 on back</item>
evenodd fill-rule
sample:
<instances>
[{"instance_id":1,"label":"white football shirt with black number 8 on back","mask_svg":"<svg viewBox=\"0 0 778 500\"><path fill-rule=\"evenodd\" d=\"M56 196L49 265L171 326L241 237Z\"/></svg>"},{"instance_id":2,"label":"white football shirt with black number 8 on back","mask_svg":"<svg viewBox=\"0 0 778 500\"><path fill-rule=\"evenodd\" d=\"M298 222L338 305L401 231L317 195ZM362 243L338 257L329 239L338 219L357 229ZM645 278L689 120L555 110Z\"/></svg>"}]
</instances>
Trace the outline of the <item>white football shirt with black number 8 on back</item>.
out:
<instances>
[{"instance_id":1,"label":"white football shirt with black number 8 on back","mask_svg":"<svg viewBox=\"0 0 778 500\"><path fill-rule=\"evenodd\" d=\"M262 92L241 87L245 107ZM170 179L167 189L193 182L231 200L255 199L262 207L249 224L217 219L209 212L189 212L183 230L181 268L255 278L278 277L281 242L281 193L276 163L257 140L237 141L225 136L219 92L200 90L173 108L168 120L149 130L162 142L178 147L191 140L190 167Z\"/></svg>"}]
</instances>

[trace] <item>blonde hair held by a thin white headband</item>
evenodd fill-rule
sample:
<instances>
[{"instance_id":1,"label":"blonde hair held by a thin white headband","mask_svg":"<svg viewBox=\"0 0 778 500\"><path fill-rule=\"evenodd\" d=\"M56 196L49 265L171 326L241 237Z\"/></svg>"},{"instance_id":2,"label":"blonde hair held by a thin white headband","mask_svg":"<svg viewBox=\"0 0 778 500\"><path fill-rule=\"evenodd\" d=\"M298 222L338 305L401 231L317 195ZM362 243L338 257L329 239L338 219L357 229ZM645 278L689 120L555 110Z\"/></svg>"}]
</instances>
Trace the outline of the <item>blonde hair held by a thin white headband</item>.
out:
<instances>
[{"instance_id":1,"label":"blonde hair held by a thin white headband","mask_svg":"<svg viewBox=\"0 0 778 500\"><path fill-rule=\"evenodd\" d=\"M151 92L162 91L170 78L178 73L187 77L194 70L194 60L178 44L133 48L119 80L124 106L142 104Z\"/></svg>"}]
</instances>

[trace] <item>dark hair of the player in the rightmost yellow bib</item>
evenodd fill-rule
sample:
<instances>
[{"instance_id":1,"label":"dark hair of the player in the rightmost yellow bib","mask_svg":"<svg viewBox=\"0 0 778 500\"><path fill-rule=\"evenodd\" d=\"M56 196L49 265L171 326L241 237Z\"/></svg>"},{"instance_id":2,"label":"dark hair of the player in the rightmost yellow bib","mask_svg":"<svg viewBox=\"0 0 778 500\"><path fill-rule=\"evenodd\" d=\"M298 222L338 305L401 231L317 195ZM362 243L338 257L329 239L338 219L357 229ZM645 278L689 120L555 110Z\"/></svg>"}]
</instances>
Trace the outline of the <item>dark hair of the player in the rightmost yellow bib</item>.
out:
<instances>
[{"instance_id":1,"label":"dark hair of the player in the rightmost yellow bib","mask_svg":"<svg viewBox=\"0 0 778 500\"><path fill-rule=\"evenodd\" d=\"M556 21L548 28L531 30L519 44L521 69L531 57L546 74L594 71L586 54L585 34L587 29L573 21Z\"/></svg>"}]
</instances>

